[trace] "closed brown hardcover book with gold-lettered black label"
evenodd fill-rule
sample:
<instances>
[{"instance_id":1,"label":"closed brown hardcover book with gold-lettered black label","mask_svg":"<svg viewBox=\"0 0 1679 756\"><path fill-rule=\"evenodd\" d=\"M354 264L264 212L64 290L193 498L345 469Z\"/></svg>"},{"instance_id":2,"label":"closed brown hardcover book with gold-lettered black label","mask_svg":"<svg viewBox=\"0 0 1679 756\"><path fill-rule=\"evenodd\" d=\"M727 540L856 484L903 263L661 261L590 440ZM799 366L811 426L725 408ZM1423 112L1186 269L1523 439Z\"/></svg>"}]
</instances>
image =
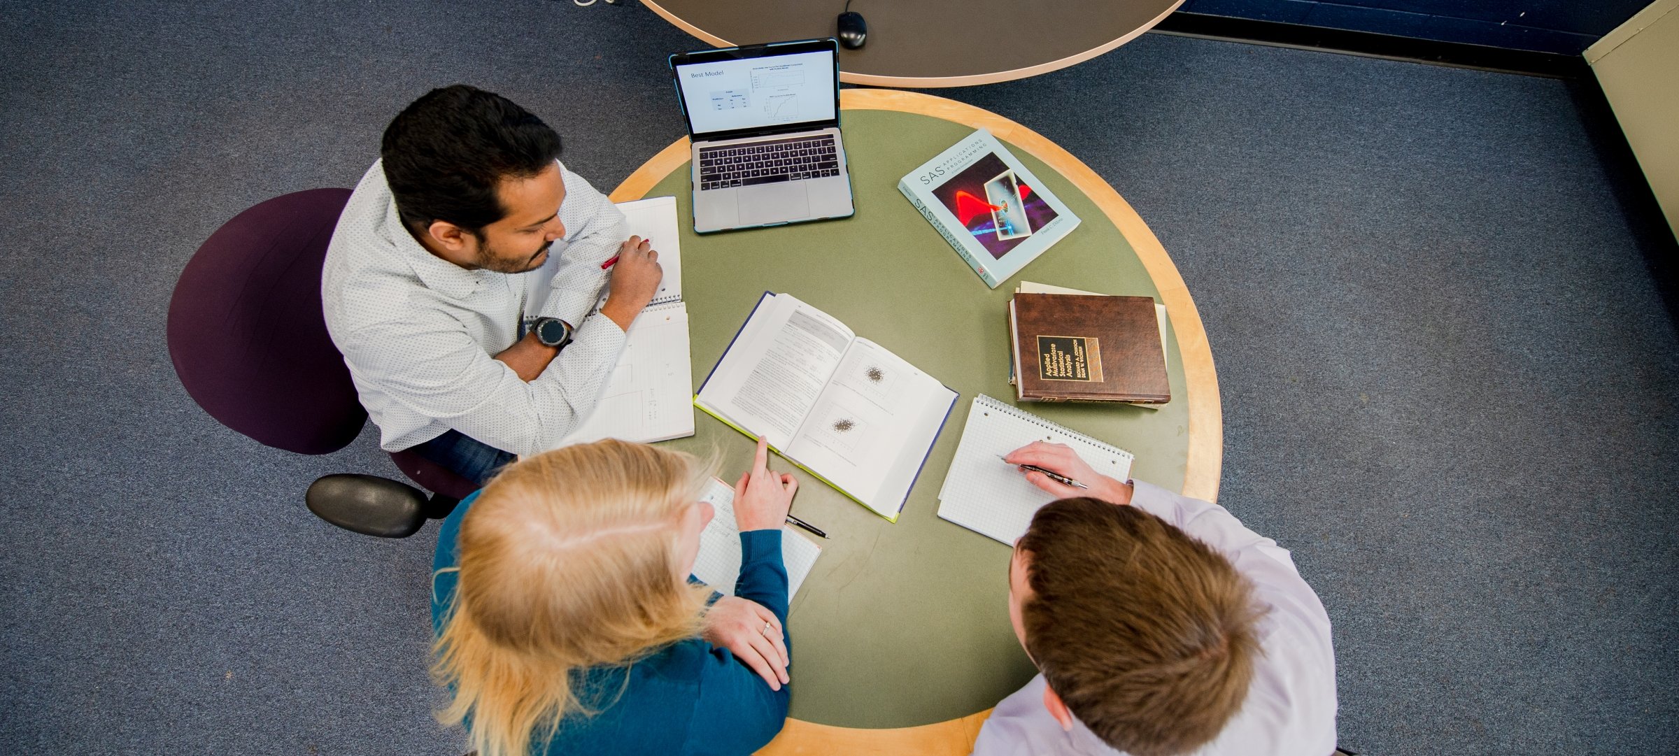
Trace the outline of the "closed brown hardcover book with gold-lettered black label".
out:
<instances>
[{"instance_id":1,"label":"closed brown hardcover book with gold-lettered black label","mask_svg":"<svg viewBox=\"0 0 1679 756\"><path fill-rule=\"evenodd\" d=\"M1016 294L1009 323L1021 402L1172 400L1152 297Z\"/></svg>"}]
</instances>

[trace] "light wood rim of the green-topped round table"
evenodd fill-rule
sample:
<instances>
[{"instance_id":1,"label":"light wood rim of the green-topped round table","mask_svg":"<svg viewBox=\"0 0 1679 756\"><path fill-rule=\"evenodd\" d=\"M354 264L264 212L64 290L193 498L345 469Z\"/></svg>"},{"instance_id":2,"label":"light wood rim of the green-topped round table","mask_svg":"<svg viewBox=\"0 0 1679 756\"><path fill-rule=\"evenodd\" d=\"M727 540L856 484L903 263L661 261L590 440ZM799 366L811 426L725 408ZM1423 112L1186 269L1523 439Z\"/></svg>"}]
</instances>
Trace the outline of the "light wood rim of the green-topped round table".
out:
<instances>
[{"instance_id":1,"label":"light wood rim of the green-topped round table","mask_svg":"<svg viewBox=\"0 0 1679 756\"><path fill-rule=\"evenodd\" d=\"M1172 257L1165 254L1165 247L1148 230L1143 218L1137 215L1137 210L1108 181L1103 181L1096 171L1059 144L996 113L932 94L892 89L841 91L840 108L915 113L991 129L999 139L1026 150L1048 166L1061 171L1063 176L1073 181L1075 186L1101 208L1108 220L1132 244L1132 249L1137 250L1143 269L1148 270L1155 289L1160 291L1160 301L1165 304L1167 318L1170 318L1172 329L1177 334L1179 354L1184 360L1185 393L1189 395L1189 455L1184 475L1184 496L1216 501L1219 496L1219 474L1224 464L1224 415L1219 400L1219 376L1212 366L1212 348L1207 343L1207 331L1200 323L1200 312L1195 311L1195 302L1189 296L1184 277L1179 276ZM646 163L641 163L635 173L613 190L609 198L613 202L640 200L658 181L687 163L690 155L688 138L677 139ZM974 738L979 736L979 727L987 716L991 716L991 709L944 722L893 729L836 727L803 719L787 719L787 726L781 734L769 746L764 746L759 754L965 756L972 749Z\"/></svg>"}]
</instances>

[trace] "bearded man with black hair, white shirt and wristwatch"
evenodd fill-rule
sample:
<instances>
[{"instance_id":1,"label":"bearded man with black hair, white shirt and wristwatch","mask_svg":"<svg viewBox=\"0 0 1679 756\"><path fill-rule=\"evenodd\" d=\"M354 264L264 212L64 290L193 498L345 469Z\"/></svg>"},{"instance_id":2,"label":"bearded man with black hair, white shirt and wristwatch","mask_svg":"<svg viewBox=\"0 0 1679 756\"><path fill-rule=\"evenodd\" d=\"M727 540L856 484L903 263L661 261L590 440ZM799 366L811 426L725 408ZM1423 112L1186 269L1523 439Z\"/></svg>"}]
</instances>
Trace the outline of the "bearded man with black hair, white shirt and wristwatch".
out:
<instances>
[{"instance_id":1,"label":"bearded man with black hair, white shirt and wristwatch","mask_svg":"<svg viewBox=\"0 0 1679 756\"><path fill-rule=\"evenodd\" d=\"M561 440L658 289L658 252L626 235L561 165L559 134L507 97L457 84L403 109L321 274L379 444L482 482Z\"/></svg>"}]
</instances>

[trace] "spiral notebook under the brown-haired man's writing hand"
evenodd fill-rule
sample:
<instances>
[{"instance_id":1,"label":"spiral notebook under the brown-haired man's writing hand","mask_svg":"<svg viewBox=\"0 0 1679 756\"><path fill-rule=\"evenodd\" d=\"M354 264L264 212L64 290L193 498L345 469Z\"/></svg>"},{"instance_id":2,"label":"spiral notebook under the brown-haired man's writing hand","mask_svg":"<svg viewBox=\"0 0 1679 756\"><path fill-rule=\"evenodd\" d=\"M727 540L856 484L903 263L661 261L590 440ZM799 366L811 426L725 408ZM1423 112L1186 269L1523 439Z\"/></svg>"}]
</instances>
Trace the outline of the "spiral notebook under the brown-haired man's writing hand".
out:
<instances>
[{"instance_id":1,"label":"spiral notebook under the brown-haired man's writing hand","mask_svg":"<svg viewBox=\"0 0 1679 756\"><path fill-rule=\"evenodd\" d=\"M1063 428L1007 402L986 395L974 398L955 447L950 472L939 489L939 516L1009 546L1026 534L1038 507L1054 501L1026 482L1019 467L997 459L1034 440L1066 444L1096 472L1125 480L1132 474L1132 452Z\"/></svg>"}]
</instances>

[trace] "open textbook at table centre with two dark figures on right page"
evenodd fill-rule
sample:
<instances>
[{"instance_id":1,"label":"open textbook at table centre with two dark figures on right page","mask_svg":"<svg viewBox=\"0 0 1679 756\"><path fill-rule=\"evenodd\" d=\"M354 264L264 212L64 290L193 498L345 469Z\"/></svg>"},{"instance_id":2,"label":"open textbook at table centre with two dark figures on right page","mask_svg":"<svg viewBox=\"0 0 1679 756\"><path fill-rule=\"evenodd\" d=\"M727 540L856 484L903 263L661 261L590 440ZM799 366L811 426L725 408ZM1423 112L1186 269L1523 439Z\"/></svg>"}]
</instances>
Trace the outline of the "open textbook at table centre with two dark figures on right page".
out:
<instances>
[{"instance_id":1,"label":"open textbook at table centre with two dark figures on right page","mask_svg":"<svg viewBox=\"0 0 1679 756\"><path fill-rule=\"evenodd\" d=\"M764 292L693 403L897 522L955 396L833 316Z\"/></svg>"}]
</instances>

